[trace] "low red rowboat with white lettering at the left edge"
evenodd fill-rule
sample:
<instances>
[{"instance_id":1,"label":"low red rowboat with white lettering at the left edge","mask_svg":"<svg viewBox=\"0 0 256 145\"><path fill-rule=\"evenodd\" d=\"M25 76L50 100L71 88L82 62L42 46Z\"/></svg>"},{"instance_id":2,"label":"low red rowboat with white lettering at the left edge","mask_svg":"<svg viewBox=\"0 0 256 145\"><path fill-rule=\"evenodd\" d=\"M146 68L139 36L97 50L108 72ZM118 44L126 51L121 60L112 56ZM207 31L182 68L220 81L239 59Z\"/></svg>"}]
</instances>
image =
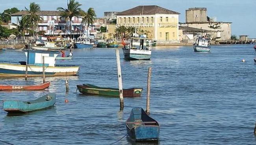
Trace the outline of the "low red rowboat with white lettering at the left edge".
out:
<instances>
[{"instance_id":1,"label":"low red rowboat with white lettering at the left edge","mask_svg":"<svg viewBox=\"0 0 256 145\"><path fill-rule=\"evenodd\" d=\"M40 85L0 85L0 91L37 91L44 90L50 86L51 82Z\"/></svg>"}]
</instances>

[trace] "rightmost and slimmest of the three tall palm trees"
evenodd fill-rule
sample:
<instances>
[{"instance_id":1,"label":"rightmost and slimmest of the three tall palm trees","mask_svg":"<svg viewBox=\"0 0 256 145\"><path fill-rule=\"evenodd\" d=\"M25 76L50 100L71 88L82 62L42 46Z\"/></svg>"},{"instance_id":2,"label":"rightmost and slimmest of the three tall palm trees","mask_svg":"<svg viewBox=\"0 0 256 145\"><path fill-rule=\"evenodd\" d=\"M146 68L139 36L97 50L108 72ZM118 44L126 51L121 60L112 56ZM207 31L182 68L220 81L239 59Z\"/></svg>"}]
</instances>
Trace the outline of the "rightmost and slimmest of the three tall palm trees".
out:
<instances>
[{"instance_id":1,"label":"rightmost and slimmest of the three tall palm trees","mask_svg":"<svg viewBox=\"0 0 256 145\"><path fill-rule=\"evenodd\" d=\"M89 26L92 25L95 22L96 19L96 13L92 7L90 7L87 12L83 15L83 23L87 23L87 36L89 37Z\"/></svg>"}]
</instances>

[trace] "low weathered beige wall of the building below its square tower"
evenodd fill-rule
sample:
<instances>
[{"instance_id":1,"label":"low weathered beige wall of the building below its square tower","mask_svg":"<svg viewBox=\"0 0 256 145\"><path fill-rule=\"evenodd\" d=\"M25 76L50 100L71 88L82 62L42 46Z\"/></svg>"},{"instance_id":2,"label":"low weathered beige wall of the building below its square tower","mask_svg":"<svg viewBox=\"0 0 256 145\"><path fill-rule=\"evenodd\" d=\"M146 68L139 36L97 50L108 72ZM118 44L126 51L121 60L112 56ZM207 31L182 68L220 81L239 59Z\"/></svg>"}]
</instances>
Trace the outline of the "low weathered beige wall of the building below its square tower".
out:
<instances>
[{"instance_id":1,"label":"low weathered beige wall of the building below its square tower","mask_svg":"<svg viewBox=\"0 0 256 145\"><path fill-rule=\"evenodd\" d=\"M217 31L220 31L221 38L218 38L217 40L230 40L231 37L231 23L228 22L215 22L220 23L221 28L220 29L211 29L209 28L209 23L188 23L188 27L198 28L198 29L206 29L211 31L216 31L214 34L214 37L217 37Z\"/></svg>"}]
</instances>

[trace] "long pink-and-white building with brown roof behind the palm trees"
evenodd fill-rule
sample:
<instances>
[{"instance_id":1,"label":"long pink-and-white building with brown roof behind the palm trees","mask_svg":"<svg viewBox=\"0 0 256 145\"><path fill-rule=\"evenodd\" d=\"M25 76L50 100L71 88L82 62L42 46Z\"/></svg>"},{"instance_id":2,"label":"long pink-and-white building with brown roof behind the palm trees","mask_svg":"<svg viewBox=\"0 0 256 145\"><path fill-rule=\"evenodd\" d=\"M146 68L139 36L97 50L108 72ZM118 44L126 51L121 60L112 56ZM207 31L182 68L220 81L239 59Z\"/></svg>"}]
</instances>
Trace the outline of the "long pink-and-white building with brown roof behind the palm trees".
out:
<instances>
[{"instance_id":1,"label":"long pink-and-white building with brown roof behind the palm trees","mask_svg":"<svg viewBox=\"0 0 256 145\"><path fill-rule=\"evenodd\" d=\"M18 20L21 20L22 16L28 14L27 11L20 11L11 14L11 23L17 24ZM45 31L45 35L67 35L70 34L70 21L65 18L61 18L60 11L39 11L37 13L41 18L42 22L38 23L36 31ZM78 37L81 34L87 34L87 24L82 23L82 18L73 17L72 18L72 35ZM91 37L95 36L94 25L89 27L89 35Z\"/></svg>"}]
</instances>

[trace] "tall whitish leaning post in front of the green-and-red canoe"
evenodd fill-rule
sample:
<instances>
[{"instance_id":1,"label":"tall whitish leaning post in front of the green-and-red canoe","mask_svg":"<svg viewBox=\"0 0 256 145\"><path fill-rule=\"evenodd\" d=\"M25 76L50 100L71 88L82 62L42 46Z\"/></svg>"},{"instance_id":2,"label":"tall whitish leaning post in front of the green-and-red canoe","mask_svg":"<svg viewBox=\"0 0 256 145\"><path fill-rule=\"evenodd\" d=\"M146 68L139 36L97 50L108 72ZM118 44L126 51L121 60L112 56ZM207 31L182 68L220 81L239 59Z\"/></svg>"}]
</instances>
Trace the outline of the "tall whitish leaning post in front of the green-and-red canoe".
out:
<instances>
[{"instance_id":1,"label":"tall whitish leaning post in front of the green-and-red canoe","mask_svg":"<svg viewBox=\"0 0 256 145\"><path fill-rule=\"evenodd\" d=\"M119 97L120 97L120 110L124 109L124 97L122 95L122 73L121 73L121 64L120 64L120 55L119 50L115 50L117 56L117 77L118 77L118 87L119 87Z\"/></svg>"}]
</instances>

